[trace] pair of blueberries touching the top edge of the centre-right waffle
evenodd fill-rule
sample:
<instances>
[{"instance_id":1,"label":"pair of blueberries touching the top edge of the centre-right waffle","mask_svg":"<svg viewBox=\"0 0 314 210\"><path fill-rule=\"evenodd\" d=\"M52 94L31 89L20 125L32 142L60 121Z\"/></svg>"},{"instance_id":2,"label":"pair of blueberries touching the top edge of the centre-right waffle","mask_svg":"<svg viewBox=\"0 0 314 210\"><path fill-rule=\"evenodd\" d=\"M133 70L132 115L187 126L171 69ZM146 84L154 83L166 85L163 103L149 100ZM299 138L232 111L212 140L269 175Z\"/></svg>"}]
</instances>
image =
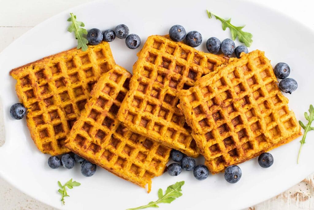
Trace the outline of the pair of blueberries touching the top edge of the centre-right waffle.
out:
<instances>
[{"instance_id":1,"label":"pair of blueberries touching the top edge of the centre-right waffle","mask_svg":"<svg viewBox=\"0 0 314 210\"><path fill-rule=\"evenodd\" d=\"M185 38L185 42L187 43L187 45L193 48L198 47L203 41L200 32L190 31L187 33L184 27L180 25L172 26L169 30L169 36L175 42L181 42Z\"/></svg>"}]
</instances>

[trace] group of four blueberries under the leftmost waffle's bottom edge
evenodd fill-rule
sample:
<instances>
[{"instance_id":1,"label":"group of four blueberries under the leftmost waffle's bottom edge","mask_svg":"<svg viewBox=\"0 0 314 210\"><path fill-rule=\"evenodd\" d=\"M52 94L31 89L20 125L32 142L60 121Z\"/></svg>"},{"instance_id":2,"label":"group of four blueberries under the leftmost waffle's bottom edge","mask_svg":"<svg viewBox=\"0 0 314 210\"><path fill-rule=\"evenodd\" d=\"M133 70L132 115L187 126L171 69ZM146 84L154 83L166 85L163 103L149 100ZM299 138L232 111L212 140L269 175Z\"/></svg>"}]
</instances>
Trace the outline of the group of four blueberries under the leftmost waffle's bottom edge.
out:
<instances>
[{"instance_id":1,"label":"group of four blueberries under the leftmost waffle's bottom edge","mask_svg":"<svg viewBox=\"0 0 314 210\"><path fill-rule=\"evenodd\" d=\"M75 162L81 163L81 173L86 176L93 176L96 172L96 165L89 162L88 160L85 160L83 157L78 156L77 154L71 153L65 153L61 156L61 160L58 156L51 156L48 159L48 165L49 167L55 169L60 166L63 166L67 169L71 169L74 167Z\"/></svg>"}]
</instances>

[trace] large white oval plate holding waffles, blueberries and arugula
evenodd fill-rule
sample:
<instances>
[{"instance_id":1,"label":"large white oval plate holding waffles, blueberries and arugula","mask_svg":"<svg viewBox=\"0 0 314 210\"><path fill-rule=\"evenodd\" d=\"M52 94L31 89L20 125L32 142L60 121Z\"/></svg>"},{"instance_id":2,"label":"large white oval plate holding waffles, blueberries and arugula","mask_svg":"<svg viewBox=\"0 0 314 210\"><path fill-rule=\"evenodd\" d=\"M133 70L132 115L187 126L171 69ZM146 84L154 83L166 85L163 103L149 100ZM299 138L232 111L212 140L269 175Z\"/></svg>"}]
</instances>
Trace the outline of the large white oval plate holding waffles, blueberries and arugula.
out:
<instances>
[{"instance_id":1,"label":"large white oval plate holding waffles, blueberries and arugula","mask_svg":"<svg viewBox=\"0 0 314 210\"><path fill-rule=\"evenodd\" d=\"M47 164L48 155L37 150L25 119L13 120L9 108L18 102L15 93L15 80L9 71L20 65L42 57L58 53L76 46L73 34L67 32L69 13L77 15L86 29L113 29L118 24L126 24L130 33L138 34L142 46L146 37L152 34L167 34L175 24L183 25L187 31L196 30L203 35L200 50L206 50L209 37L220 40L230 38L230 31L221 29L219 20L208 19L206 9L210 9L223 18L232 17L236 26L246 24L244 31L253 34L253 44L249 50L260 49L275 65L287 62L290 65L290 77L296 79L299 88L289 99L290 108L297 119L305 122L303 113L314 102L310 95L314 78L311 57L314 48L313 31L284 14L257 4L234 1L197 0L193 3L176 3L159 0L152 2L106 1L80 5L58 14L18 38L0 54L1 99L4 107L6 142L0 147L0 175L26 194L61 209L126 209L147 204L157 199L157 190L166 189L176 181L185 181L183 196L172 204L160 204L162 209L239 209L252 206L298 183L314 171L312 152L314 132L307 136L307 143L301 152L300 164L296 158L300 147L299 139L281 146L271 153L274 156L272 167L261 168L257 159L240 164L243 175L237 184L229 184L223 174L210 175L204 181L198 181L192 172L183 171L177 177L164 174L153 179L152 191L146 191L98 167L94 176L86 178L80 173L80 166L67 170L52 170ZM125 40L116 38L111 49L116 63L132 71L137 60L137 50L128 49ZM236 41L236 45L240 44ZM203 158L197 160L203 163ZM71 197L66 197L62 206L57 193L57 181L62 183L73 178L81 186L68 190Z\"/></svg>"}]
</instances>

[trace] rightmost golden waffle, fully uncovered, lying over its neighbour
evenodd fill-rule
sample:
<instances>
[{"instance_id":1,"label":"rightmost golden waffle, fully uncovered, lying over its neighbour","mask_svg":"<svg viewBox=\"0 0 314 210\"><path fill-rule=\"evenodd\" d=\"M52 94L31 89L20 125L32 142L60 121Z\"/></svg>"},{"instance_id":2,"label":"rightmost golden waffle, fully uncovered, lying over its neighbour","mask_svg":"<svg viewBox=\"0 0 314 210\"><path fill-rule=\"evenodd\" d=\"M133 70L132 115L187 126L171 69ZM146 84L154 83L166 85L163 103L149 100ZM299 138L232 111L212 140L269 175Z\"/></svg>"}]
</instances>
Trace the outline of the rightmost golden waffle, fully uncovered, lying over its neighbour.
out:
<instances>
[{"instance_id":1,"label":"rightmost golden waffle, fully uncovered, lying over its neighbour","mask_svg":"<svg viewBox=\"0 0 314 210\"><path fill-rule=\"evenodd\" d=\"M216 75L206 75L179 94L211 173L286 144L301 135L276 85L270 61L259 50L230 59Z\"/></svg>"}]
</instances>

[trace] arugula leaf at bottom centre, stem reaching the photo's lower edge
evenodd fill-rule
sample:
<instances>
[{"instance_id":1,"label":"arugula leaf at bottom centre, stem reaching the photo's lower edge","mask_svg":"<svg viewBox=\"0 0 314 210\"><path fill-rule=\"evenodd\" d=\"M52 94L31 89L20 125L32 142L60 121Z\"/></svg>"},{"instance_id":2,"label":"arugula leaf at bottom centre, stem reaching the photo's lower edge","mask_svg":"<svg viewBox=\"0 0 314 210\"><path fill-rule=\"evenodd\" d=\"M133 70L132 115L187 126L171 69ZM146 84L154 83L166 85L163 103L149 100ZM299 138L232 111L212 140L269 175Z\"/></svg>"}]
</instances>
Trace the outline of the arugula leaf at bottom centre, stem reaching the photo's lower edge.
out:
<instances>
[{"instance_id":1,"label":"arugula leaf at bottom centre, stem reaching the photo's lower edge","mask_svg":"<svg viewBox=\"0 0 314 210\"><path fill-rule=\"evenodd\" d=\"M172 184L167 187L165 194L163 193L162 189L158 190L158 200L157 201L150 201L147 205L136 207L136 208L128 208L127 210L135 210L135 209L143 209L148 207L159 207L157 204L159 203L171 203L172 201L176 200L176 198L182 196L181 187L183 186L184 181L177 182L176 184Z\"/></svg>"}]
</instances>

